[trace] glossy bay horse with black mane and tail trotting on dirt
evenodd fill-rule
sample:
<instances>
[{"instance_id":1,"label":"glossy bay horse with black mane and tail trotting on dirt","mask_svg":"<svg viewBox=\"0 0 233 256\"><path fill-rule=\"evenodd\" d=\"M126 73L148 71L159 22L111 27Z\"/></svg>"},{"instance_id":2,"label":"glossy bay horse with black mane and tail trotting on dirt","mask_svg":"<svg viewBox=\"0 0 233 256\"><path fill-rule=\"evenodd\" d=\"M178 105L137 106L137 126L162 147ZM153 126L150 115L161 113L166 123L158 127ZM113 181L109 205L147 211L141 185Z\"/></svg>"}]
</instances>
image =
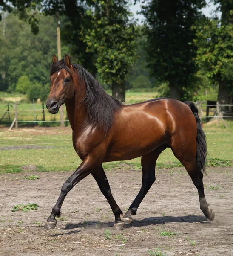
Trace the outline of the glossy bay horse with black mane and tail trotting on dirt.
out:
<instances>
[{"instance_id":1,"label":"glossy bay horse with black mane and tail trotting on dirt","mask_svg":"<svg viewBox=\"0 0 233 256\"><path fill-rule=\"evenodd\" d=\"M62 186L57 203L47 219L45 229L54 228L56 216L67 193L91 174L115 215L116 229L131 223L146 193L155 182L155 164L166 148L185 166L198 190L200 209L209 220L203 187L207 154L205 134L198 111L192 102L175 99L152 99L122 105L102 89L99 82L79 64L71 64L68 55L57 61L53 56L50 73L51 91L46 101L50 113L57 113L65 103L73 130L74 149L82 160L77 170ZM103 162L130 160L142 156L142 187L123 218L114 200L102 168Z\"/></svg>"}]
</instances>

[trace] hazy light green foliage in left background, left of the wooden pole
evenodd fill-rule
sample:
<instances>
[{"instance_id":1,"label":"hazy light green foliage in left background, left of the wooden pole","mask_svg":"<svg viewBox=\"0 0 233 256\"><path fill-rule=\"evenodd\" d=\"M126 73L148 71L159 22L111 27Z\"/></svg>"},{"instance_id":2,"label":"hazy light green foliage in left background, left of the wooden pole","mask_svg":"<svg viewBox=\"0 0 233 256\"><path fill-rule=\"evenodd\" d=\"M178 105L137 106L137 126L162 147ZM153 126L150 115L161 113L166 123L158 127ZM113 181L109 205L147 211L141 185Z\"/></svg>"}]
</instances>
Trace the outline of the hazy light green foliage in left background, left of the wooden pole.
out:
<instances>
[{"instance_id":1,"label":"hazy light green foliage in left background, left of the wooden pole","mask_svg":"<svg viewBox=\"0 0 233 256\"><path fill-rule=\"evenodd\" d=\"M4 24L0 22L0 88L4 87L9 92L15 91L22 76L27 76L31 84L45 85L49 82L51 57L57 52L56 21L53 17L37 15L40 17L37 36L31 33L27 23L13 14L5 15L4 35ZM62 50L67 52L67 48ZM28 93L26 88L23 93Z\"/></svg>"}]
</instances>

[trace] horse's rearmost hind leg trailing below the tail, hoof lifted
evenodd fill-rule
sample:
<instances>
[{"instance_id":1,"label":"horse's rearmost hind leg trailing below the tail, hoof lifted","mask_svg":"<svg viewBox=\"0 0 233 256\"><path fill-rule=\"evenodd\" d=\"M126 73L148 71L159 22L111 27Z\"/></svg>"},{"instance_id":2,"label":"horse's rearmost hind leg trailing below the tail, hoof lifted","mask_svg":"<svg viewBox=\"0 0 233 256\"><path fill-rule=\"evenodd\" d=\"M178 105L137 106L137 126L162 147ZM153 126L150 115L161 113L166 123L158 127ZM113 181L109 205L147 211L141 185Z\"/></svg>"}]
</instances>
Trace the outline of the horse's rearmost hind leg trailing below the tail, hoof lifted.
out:
<instances>
[{"instance_id":1,"label":"horse's rearmost hind leg trailing below the tail, hoof lifted","mask_svg":"<svg viewBox=\"0 0 233 256\"><path fill-rule=\"evenodd\" d=\"M207 201L205 199L204 185L203 185L203 173L199 169L196 162L196 150L191 147L174 149L172 148L173 154L178 160L185 166L189 176L191 177L193 184L196 186L199 196L200 209L204 213L205 217L210 221L214 219L214 212L209 209Z\"/></svg>"}]
</instances>

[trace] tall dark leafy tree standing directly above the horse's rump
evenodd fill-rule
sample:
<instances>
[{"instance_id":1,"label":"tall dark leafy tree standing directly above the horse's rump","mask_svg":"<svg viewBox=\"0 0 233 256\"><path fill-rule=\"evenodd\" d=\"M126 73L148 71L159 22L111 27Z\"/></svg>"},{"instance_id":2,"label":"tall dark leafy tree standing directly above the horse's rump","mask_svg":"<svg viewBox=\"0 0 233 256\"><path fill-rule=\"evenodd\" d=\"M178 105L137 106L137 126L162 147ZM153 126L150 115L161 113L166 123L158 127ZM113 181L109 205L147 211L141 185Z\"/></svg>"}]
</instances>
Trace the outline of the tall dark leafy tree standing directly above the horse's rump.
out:
<instances>
[{"instance_id":1,"label":"tall dark leafy tree standing directly above the horse's rump","mask_svg":"<svg viewBox=\"0 0 233 256\"><path fill-rule=\"evenodd\" d=\"M174 99L184 100L184 91L195 84L197 48L192 26L202 17L203 6L205 0L151 0L142 7L148 67L158 81L168 81Z\"/></svg>"}]
</instances>

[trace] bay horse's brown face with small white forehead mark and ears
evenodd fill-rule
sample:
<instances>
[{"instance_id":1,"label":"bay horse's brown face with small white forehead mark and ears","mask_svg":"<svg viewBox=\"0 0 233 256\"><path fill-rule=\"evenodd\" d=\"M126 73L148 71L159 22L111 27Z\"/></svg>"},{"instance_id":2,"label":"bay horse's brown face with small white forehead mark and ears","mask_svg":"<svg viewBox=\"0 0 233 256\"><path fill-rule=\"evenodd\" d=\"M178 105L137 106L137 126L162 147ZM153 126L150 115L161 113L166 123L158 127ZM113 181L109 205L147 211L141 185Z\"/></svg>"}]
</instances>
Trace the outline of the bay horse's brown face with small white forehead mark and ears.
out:
<instances>
[{"instance_id":1,"label":"bay horse's brown face with small white forehead mark and ears","mask_svg":"<svg viewBox=\"0 0 233 256\"><path fill-rule=\"evenodd\" d=\"M53 64L57 62L57 57L53 56ZM69 69L72 70L70 58L65 55L65 63ZM48 112L56 114L61 105L65 103L66 99L71 99L74 96L74 81L72 72L69 73L65 69L52 74L50 77L51 87L50 94L46 100L46 107Z\"/></svg>"}]
</instances>

